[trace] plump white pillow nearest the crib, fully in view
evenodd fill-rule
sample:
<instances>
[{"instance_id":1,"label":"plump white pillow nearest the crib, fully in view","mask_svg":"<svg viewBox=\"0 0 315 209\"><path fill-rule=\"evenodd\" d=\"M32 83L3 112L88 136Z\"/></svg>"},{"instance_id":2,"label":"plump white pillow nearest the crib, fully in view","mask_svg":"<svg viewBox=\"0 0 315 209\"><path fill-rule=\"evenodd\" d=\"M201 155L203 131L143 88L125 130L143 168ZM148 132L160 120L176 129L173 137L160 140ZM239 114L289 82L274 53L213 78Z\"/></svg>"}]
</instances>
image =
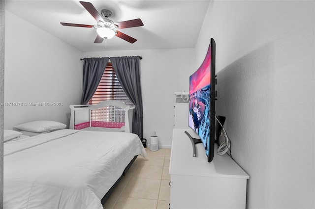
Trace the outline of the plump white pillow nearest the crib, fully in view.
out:
<instances>
[{"instance_id":1,"label":"plump white pillow nearest the crib, fully in view","mask_svg":"<svg viewBox=\"0 0 315 209\"><path fill-rule=\"evenodd\" d=\"M15 126L19 130L23 131L32 131L32 132L45 132L45 131L53 131L64 129L66 127L65 124L59 123L57 121L32 121L24 124L20 124Z\"/></svg>"}]
</instances>

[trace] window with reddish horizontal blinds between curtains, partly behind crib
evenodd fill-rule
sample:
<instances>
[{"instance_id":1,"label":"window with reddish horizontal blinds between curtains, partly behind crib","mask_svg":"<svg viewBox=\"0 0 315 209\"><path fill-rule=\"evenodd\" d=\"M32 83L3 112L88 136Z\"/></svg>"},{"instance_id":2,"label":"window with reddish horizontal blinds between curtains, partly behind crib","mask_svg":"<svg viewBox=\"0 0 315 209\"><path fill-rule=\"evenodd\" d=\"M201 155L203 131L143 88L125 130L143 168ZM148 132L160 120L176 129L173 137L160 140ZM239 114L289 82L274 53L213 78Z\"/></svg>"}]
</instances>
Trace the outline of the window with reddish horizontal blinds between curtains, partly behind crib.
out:
<instances>
[{"instance_id":1,"label":"window with reddish horizontal blinds between curtains, partly behind crib","mask_svg":"<svg viewBox=\"0 0 315 209\"><path fill-rule=\"evenodd\" d=\"M127 97L110 62L107 64L97 89L88 104L98 104L106 100L119 100L127 105L134 106ZM92 111L91 120L125 122L125 111L123 109L118 107L106 107L103 111L104 113L102 114L94 114ZM96 115L98 115L98 117L96 117Z\"/></svg>"}]
</instances>

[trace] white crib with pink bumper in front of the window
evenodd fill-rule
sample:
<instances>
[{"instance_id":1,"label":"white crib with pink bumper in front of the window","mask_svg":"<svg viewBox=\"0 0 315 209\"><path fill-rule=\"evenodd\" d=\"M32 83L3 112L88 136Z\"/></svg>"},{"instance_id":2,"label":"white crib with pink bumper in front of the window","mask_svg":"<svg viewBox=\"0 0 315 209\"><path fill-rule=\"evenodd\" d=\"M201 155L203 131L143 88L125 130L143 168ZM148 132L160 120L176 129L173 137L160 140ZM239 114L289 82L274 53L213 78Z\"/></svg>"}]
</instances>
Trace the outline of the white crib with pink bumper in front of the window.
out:
<instances>
[{"instance_id":1,"label":"white crib with pink bumper in front of the window","mask_svg":"<svg viewBox=\"0 0 315 209\"><path fill-rule=\"evenodd\" d=\"M70 105L69 129L131 133L134 108L118 100L103 101L93 105ZM93 129L91 129L92 127ZM95 129L95 127L97 128Z\"/></svg>"}]
</instances>

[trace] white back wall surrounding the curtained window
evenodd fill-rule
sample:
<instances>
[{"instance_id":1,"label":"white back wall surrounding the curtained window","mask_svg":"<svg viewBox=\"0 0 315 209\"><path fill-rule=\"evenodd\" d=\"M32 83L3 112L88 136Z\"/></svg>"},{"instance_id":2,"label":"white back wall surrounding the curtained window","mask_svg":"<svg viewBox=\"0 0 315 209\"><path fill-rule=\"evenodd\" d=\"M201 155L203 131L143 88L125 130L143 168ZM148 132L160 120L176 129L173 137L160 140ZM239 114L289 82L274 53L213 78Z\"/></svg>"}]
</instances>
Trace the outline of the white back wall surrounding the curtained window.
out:
<instances>
[{"instance_id":1,"label":"white back wall surrounding the curtained window","mask_svg":"<svg viewBox=\"0 0 315 209\"><path fill-rule=\"evenodd\" d=\"M110 40L107 42L110 44ZM159 147L172 143L175 92L189 90L189 75L195 71L194 49L85 52L84 57L142 56L140 60L143 99L143 135L148 141L157 131Z\"/></svg>"}]
</instances>

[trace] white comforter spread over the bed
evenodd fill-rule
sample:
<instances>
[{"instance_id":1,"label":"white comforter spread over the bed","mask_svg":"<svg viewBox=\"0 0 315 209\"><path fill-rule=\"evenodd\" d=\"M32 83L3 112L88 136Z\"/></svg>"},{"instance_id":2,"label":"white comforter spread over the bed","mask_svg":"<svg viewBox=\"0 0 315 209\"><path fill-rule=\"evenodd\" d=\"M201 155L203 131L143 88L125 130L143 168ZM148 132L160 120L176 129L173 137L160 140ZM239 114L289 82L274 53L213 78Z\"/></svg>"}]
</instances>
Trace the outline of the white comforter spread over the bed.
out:
<instances>
[{"instance_id":1,"label":"white comforter spread over the bed","mask_svg":"<svg viewBox=\"0 0 315 209\"><path fill-rule=\"evenodd\" d=\"M145 149L136 134L60 130L4 143L4 209L103 209Z\"/></svg>"}]
</instances>

